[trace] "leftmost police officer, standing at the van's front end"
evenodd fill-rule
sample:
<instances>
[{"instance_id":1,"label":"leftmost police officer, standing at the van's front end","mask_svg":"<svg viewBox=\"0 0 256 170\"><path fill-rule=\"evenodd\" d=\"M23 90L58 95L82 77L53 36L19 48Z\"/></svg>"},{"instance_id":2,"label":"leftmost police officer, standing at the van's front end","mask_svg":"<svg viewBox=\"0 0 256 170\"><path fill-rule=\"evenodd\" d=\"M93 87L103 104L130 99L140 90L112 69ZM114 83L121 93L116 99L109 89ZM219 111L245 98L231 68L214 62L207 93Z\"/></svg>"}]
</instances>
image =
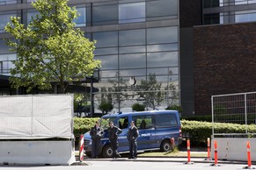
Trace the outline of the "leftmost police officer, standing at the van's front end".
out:
<instances>
[{"instance_id":1,"label":"leftmost police officer, standing at the van's front end","mask_svg":"<svg viewBox=\"0 0 256 170\"><path fill-rule=\"evenodd\" d=\"M103 129L99 127L99 122L96 121L95 125L91 128L90 131L91 135L91 159L98 158L98 150L100 144L100 138L103 136Z\"/></svg>"}]
</instances>

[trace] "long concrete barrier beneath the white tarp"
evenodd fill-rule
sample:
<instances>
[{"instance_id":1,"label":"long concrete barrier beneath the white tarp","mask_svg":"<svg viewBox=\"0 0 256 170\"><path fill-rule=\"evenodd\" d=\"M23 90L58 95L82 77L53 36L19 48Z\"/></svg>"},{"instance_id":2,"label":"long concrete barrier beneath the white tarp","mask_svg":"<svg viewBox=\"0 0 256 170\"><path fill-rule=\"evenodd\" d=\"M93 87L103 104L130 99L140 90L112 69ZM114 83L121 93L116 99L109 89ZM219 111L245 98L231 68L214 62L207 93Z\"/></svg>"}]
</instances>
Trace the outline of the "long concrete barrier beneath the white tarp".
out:
<instances>
[{"instance_id":1,"label":"long concrete barrier beneath the white tarp","mask_svg":"<svg viewBox=\"0 0 256 170\"><path fill-rule=\"evenodd\" d=\"M75 161L72 141L0 141L0 164L70 165Z\"/></svg>"}]
</instances>

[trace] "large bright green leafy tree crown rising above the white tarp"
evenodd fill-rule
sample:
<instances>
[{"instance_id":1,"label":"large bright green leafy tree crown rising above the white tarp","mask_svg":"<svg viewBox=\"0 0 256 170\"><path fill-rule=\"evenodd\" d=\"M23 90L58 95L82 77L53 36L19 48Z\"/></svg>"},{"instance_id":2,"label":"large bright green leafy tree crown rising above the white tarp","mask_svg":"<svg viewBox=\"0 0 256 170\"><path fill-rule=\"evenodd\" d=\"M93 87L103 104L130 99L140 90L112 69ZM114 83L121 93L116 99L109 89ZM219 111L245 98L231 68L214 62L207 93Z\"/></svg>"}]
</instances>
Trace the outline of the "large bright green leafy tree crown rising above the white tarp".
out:
<instances>
[{"instance_id":1,"label":"large bright green leafy tree crown rising above the white tarp","mask_svg":"<svg viewBox=\"0 0 256 170\"><path fill-rule=\"evenodd\" d=\"M67 3L68 0L37 0L32 5L39 14L29 25L11 17L11 23L5 26L5 31L16 39L7 41L17 52L15 68L11 69L13 88L51 89L56 83L65 93L70 83L90 76L100 67L100 61L93 59L95 42L75 28L77 11Z\"/></svg>"}]
</instances>

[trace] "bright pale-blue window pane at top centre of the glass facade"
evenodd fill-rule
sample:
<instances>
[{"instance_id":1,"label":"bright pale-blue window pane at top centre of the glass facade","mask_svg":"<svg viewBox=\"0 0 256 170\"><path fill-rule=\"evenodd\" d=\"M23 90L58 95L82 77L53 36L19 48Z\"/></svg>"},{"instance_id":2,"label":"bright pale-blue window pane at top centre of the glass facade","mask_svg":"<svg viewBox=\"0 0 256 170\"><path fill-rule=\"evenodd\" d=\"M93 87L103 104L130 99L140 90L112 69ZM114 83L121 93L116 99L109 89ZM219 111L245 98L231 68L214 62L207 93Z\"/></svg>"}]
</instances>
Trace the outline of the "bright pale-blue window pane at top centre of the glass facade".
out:
<instances>
[{"instance_id":1,"label":"bright pale-blue window pane at top centre of the glass facade","mask_svg":"<svg viewBox=\"0 0 256 170\"><path fill-rule=\"evenodd\" d=\"M119 4L119 23L145 21L145 3Z\"/></svg>"}]
</instances>

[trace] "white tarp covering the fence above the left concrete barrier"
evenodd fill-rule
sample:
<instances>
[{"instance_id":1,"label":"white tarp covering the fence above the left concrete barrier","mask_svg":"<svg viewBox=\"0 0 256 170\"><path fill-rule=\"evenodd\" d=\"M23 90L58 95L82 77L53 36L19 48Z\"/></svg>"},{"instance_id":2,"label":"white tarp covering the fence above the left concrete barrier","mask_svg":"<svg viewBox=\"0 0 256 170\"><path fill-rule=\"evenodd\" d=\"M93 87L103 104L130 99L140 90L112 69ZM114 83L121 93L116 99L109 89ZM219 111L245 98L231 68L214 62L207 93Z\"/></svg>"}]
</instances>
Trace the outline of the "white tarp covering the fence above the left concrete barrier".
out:
<instances>
[{"instance_id":1,"label":"white tarp covering the fence above the left concrete barrier","mask_svg":"<svg viewBox=\"0 0 256 170\"><path fill-rule=\"evenodd\" d=\"M72 138L72 118L72 95L0 97L0 138Z\"/></svg>"}]
</instances>

